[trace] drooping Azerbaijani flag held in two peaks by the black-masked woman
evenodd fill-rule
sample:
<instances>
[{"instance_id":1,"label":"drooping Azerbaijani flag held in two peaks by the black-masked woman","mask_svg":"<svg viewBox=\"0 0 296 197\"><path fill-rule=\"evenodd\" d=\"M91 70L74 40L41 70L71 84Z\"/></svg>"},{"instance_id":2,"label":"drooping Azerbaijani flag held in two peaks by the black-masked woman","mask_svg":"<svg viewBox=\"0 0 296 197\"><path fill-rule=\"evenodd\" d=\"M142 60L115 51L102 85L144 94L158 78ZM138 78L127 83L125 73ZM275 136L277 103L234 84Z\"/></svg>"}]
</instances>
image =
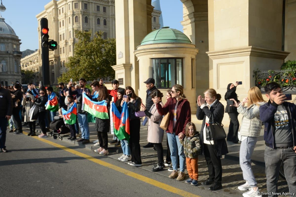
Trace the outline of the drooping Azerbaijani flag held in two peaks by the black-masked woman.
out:
<instances>
[{"instance_id":1,"label":"drooping Azerbaijani flag held in two peaks by the black-masked woman","mask_svg":"<svg viewBox=\"0 0 296 197\"><path fill-rule=\"evenodd\" d=\"M129 116L128 116L128 105L126 102L123 103L121 114L119 113L116 105L112 102L110 107L110 123L111 133L115 133L118 139L126 139L129 141Z\"/></svg>"}]
</instances>

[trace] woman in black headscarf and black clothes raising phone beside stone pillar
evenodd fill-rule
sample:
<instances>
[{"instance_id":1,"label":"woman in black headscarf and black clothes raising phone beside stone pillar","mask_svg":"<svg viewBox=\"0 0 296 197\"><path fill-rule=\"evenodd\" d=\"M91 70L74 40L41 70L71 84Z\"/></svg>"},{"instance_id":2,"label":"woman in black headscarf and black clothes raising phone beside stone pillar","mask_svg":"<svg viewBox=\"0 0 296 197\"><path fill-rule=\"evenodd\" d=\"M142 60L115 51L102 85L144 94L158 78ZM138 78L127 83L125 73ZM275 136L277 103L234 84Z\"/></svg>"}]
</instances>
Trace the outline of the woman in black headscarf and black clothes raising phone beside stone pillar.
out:
<instances>
[{"instance_id":1,"label":"woman in black headscarf and black clothes raising phone beside stone pillar","mask_svg":"<svg viewBox=\"0 0 296 197\"><path fill-rule=\"evenodd\" d=\"M225 93L225 100L234 99L239 103L239 100L237 99L237 93L235 93L238 84L239 82L236 82L235 84L228 84L227 92ZM230 118L229 130L226 140L237 143L239 141L237 137L237 132L239 131L239 121L237 119L239 113L237 112L237 108L226 105L225 113L228 113Z\"/></svg>"}]
</instances>

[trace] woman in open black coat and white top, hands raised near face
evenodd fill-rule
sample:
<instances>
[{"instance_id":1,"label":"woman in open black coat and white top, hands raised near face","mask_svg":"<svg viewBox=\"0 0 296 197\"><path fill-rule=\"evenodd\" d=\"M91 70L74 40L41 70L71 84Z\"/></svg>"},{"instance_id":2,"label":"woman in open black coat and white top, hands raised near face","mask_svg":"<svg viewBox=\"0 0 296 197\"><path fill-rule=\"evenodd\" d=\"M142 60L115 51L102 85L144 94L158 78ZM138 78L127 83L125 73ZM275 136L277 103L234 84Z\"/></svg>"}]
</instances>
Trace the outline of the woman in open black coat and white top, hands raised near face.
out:
<instances>
[{"instance_id":1,"label":"woman in open black coat and white top, hands raised near face","mask_svg":"<svg viewBox=\"0 0 296 197\"><path fill-rule=\"evenodd\" d=\"M209 189L215 191L222 188L222 165L220 158L228 153L228 149L225 139L214 141L206 139L205 124L209 123L210 115L212 115L214 122L221 123L224 116L224 106L219 102L221 95L217 94L214 89L207 89L204 94L204 99L202 96L198 96L196 111L197 119L203 120L200 131L200 145L209 171L209 178L202 182L202 184L211 185ZM205 104L205 101L207 104Z\"/></svg>"}]
</instances>

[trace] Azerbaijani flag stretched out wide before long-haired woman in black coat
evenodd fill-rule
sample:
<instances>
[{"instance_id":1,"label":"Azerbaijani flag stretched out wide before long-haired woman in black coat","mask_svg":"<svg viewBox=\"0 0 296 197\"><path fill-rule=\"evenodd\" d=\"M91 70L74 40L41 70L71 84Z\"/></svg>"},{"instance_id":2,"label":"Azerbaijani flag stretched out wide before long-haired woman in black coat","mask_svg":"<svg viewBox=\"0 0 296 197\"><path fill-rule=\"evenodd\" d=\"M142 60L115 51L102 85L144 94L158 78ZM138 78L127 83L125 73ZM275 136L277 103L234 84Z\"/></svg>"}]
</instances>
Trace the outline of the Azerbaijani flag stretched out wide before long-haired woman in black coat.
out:
<instances>
[{"instance_id":1,"label":"Azerbaijani flag stretched out wide before long-haired woman in black coat","mask_svg":"<svg viewBox=\"0 0 296 197\"><path fill-rule=\"evenodd\" d=\"M105 100L99 102L92 101L85 92L82 93L81 108L96 118L109 119L107 102Z\"/></svg>"}]
</instances>

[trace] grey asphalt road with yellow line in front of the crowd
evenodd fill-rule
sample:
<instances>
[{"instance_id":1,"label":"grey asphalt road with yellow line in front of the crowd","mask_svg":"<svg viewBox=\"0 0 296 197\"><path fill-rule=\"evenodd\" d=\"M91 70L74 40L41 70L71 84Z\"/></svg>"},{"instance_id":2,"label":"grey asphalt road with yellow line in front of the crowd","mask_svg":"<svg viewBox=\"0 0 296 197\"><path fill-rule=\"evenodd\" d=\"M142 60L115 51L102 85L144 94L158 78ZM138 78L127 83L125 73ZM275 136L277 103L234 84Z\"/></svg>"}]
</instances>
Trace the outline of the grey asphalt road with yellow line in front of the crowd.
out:
<instances>
[{"instance_id":1,"label":"grey asphalt road with yellow line in front of the crowd","mask_svg":"<svg viewBox=\"0 0 296 197\"><path fill-rule=\"evenodd\" d=\"M6 146L0 197L223 196L53 138L7 133Z\"/></svg>"}]
</instances>

